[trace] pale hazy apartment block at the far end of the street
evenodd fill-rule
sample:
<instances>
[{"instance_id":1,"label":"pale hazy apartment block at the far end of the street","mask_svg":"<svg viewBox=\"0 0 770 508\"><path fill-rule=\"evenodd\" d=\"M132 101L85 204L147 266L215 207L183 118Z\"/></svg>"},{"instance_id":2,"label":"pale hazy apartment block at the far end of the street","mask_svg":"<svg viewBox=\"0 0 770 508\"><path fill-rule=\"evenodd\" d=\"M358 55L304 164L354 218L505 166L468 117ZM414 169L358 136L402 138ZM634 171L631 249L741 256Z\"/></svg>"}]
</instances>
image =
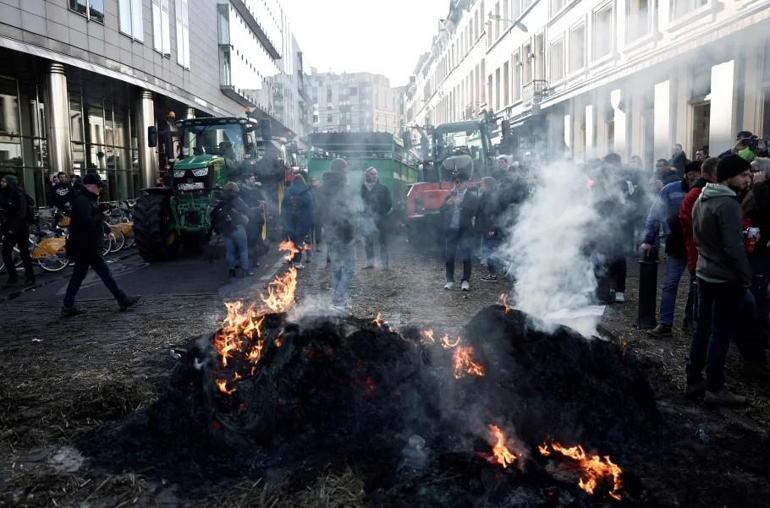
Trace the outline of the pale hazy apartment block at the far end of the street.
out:
<instances>
[{"instance_id":1,"label":"pale hazy apartment block at the far end of the street","mask_svg":"<svg viewBox=\"0 0 770 508\"><path fill-rule=\"evenodd\" d=\"M383 75L313 72L309 88L314 132L398 132L402 92Z\"/></svg>"}]
</instances>

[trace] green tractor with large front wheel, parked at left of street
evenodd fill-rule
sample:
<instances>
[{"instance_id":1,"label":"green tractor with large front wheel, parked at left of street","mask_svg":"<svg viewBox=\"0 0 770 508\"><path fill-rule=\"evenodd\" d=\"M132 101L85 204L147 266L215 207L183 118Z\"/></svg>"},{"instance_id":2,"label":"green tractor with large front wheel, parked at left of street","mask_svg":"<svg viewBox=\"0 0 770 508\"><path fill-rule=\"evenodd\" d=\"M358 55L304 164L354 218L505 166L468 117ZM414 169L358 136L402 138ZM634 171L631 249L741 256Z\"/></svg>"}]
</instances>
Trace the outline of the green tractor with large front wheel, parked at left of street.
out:
<instances>
[{"instance_id":1,"label":"green tractor with large front wheel, parked at left of street","mask_svg":"<svg viewBox=\"0 0 770 508\"><path fill-rule=\"evenodd\" d=\"M258 162L254 121L193 118L176 126L182 155L168 187L144 189L134 206L136 246L147 261L171 258L182 244L199 247L221 187L253 173Z\"/></svg>"}]
</instances>

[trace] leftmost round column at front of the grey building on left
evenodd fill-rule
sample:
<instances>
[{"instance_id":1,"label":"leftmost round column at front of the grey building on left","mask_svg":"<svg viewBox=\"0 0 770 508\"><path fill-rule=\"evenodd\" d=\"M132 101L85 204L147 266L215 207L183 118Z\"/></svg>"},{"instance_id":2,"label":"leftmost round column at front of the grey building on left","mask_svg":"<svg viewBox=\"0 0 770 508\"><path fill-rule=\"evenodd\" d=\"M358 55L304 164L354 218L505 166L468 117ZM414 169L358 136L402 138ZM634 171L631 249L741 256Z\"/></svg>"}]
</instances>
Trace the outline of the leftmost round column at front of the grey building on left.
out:
<instances>
[{"instance_id":1,"label":"leftmost round column at front of the grey building on left","mask_svg":"<svg viewBox=\"0 0 770 508\"><path fill-rule=\"evenodd\" d=\"M45 115L51 171L72 171L69 98L64 64L51 62L46 72Z\"/></svg>"}]
</instances>

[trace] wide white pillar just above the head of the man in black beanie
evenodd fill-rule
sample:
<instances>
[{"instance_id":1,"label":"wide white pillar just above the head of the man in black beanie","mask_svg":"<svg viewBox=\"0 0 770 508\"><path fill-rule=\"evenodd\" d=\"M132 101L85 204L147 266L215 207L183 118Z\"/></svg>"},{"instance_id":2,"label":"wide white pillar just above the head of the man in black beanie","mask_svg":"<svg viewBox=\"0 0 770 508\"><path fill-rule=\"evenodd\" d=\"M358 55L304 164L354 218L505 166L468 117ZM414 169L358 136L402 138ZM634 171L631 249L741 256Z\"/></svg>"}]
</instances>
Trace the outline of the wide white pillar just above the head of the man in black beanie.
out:
<instances>
[{"instance_id":1,"label":"wide white pillar just above the head of the man in black beanie","mask_svg":"<svg viewBox=\"0 0 770 508\"><path fill-rule=\"evenodd\" d=\"M711 68L709 153L732 148L735 139L735 60Z\"/></svg>"}]
</instances>

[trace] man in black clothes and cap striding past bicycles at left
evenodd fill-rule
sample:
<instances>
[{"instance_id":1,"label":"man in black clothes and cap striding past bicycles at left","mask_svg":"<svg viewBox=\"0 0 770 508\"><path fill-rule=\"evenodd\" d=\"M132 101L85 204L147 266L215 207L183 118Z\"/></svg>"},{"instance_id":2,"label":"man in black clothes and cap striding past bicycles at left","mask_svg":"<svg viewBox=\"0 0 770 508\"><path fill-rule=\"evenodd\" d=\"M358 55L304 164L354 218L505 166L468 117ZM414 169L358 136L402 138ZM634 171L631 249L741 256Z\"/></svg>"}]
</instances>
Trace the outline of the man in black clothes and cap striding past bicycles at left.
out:
<instances>
[{"instance_id":1,"label":"man in black clothes and cap striding past bicycles at left","mask_svg":"<svg viewBox=\"0 0 770 508\"><path fill-rule=\"evenodd\" d=\"M83 311L75 307L75 295L86 278L88 268L93 268L125 311L139 301L138 296L128 296L118 287L110 268L102 257L104 242L104 216L99 209L99 193L102 180L96 173L83 177L83 187L72 201L70 236L67 239L67 256L75 262L72 277L64 294L63 317L75 316Z\"/></svg>"}]
</instances>

